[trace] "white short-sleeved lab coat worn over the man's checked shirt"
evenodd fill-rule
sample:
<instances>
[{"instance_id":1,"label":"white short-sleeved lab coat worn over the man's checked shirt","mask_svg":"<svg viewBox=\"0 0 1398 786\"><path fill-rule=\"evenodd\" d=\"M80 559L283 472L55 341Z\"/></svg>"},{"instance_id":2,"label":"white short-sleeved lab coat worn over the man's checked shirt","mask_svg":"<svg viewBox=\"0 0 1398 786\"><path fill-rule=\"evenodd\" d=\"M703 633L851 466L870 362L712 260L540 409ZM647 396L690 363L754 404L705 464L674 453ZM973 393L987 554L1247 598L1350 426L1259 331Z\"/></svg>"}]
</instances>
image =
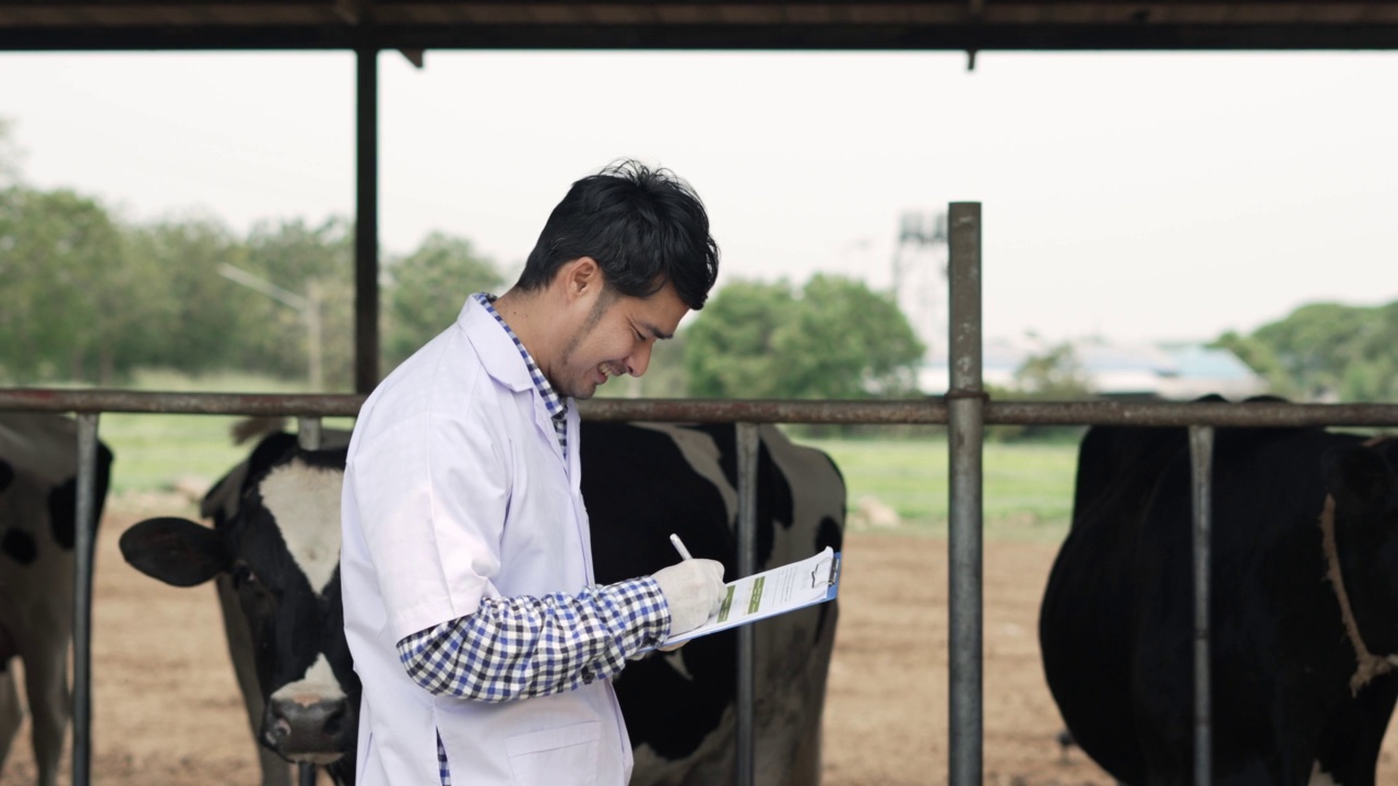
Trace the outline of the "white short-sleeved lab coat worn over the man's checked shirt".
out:
<instances>
[{"instance_id":1,"label":"white short-sleeved lab coat worn over the man's checked shirt","mask_svg":"<svg viewBox=\"0 0 1398 786\"><path fill-rule=\"evenodd\" d=\"M577 593L593 579L579 487L577 408L563 456L514 343L474 298L456 324L365 401L343 494L345 635L363 681L358 782L629 780L611 683L503 703L433 696L407 676L403 638L474 613L482 597Z\"/></svg>"}]
</instances>

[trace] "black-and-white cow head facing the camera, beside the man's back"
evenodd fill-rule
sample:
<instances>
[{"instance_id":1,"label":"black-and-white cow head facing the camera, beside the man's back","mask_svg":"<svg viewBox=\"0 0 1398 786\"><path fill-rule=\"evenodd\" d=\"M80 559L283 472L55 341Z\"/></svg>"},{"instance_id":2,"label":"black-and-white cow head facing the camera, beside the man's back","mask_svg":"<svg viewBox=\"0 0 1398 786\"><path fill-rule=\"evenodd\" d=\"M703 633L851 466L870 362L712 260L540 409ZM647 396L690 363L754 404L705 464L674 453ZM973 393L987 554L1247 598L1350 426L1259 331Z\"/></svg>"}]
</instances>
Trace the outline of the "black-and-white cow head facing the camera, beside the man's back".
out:
<instances>
[{"instance_id":1,"label":"black-and-white cow head facing the camera, beside the man's back","mask_svg":"<svg viewBox=\"0 0 1398 786\"><path fill-rule=\"evenodd\" d=\"M148 519L123 533L120 547L134 568L168 585L217 576L232 586L264 702L260 743L288 761L327 765L354 750L358 733L359 680L338 571L345 452L292 445L274 453L254 452L236 506L225 506L212 529Z\"/></svg>"}]
</instances>

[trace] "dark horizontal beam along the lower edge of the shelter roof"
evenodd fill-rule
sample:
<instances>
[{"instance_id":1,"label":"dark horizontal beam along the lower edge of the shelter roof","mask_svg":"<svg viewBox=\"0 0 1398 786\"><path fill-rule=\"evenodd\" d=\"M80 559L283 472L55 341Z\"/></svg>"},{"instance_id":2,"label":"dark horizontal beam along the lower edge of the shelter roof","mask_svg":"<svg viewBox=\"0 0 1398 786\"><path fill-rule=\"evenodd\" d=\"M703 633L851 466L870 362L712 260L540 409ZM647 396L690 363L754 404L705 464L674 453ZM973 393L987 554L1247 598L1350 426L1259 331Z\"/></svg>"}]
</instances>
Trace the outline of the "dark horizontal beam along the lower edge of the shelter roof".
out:
<instances>
[{"instance_id":1,"label":"dark horizontal beam along the lower edge of the shelter roof","mask_svg":"<svg viewBox=\"0 0 1398 786\"><path fill-rule=\"evenodd\" d=\"M787 50L1110 52L1398 48L1398 25L1357 24L471 24L0 25L0 52L194 50Z\"/></svg>"}]
</instances>

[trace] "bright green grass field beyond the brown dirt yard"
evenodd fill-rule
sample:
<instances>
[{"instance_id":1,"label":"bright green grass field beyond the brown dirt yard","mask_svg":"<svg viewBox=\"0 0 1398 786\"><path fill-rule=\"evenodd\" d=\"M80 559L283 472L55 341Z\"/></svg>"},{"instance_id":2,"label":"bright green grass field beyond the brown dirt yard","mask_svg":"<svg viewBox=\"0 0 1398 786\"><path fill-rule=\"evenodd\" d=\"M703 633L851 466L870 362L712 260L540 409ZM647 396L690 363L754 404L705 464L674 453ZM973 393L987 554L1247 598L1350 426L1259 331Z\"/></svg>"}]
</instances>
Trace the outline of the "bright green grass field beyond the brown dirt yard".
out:
<instances>
[{"instance_id":1,"label":"bright green grass field beyond the brown dirt yard","mask_svg":"<svg viewBox=\"0 0 1398 786\"><path fill-rule=\"evenodd\" d=\"M165 392L299 393L292 383L252 376L189 379L147 373L133 387ZM240 462L229 427L236 417L105 414L102 439L116 452L115 495L211 483ZM348 428L348 418L326 427ZM948 450L939 432L925 438L795 438L828 452L844 474L851 510L871 496L902 519L896 531L946 536ZM983 453L986 537L1061 540L1072 510L1075 443L987 443Z\"/></svg>"}]
</instances>

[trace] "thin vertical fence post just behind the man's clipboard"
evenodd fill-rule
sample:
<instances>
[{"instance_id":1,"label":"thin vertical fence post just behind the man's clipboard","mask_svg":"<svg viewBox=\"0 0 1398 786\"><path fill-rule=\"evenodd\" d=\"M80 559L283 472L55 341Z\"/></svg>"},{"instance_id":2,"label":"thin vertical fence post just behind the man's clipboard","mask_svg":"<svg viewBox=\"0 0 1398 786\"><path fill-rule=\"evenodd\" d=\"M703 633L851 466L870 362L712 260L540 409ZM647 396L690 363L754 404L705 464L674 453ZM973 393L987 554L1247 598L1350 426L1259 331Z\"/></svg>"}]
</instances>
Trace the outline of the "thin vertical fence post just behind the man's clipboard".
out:
<instances>
[{"instance_id":1,"label":"thin vertical fence post just behind the man's clipboard","mask_svg":"<svg viewBox=\"0 0 1398 786\"><path fill-rule=\"evenodd\" d=\"M758 572L758 425L737 424L738 443L738 578ZM754 745L755 683L754 663L756 639L752 625L738 628L738 758L734 783L752 786L756 772Z\"/></svg>"}]
</instances>

